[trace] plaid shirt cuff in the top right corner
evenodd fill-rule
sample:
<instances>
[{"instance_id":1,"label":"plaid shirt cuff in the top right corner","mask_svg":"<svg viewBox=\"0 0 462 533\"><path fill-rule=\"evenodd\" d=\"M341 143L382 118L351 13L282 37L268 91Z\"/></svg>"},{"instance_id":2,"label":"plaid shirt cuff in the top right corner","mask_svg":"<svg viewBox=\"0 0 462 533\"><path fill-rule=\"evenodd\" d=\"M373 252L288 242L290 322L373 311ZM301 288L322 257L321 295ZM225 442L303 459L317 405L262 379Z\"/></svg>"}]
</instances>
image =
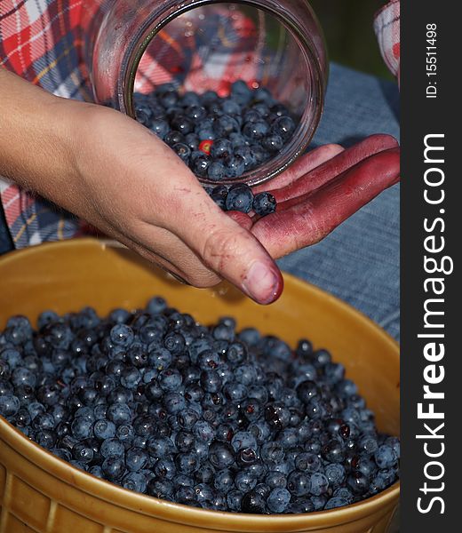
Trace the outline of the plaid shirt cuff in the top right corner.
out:
<instances>
[{"instance_id":1,"label":"plaid shirt cuff in the top right corner","mask_svg":"<svg viewBox=\"0 0 462 533\"><path fill-rule=\"evenodd\" d=\"M400 1L391 0L376 13L374 30L386 66L400 77Z\"/></svg>"}]
</instances>

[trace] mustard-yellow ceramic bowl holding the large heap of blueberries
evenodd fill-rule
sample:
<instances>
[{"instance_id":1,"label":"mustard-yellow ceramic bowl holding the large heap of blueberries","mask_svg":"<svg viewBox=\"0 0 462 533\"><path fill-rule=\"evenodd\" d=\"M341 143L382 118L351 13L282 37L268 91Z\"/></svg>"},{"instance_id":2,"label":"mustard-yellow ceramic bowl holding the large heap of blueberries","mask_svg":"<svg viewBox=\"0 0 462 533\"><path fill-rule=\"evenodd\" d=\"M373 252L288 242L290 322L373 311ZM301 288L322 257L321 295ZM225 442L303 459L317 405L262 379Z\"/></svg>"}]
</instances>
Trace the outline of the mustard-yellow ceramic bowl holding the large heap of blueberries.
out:
<instances>
[{"instance_id":1,"label":"mustard-yellow ceramic bowl holding the large heap of blueberries","mask_svg":"<svg viewBox=\"0 0 462 533\"><path fill-rule=\"evenodd\" d=\"M394 340L370 320L322 290L285 275L283 297L257 306L236 290L197 290L172 281L129 251L91 240L52 243L0 259L0 328L12 314L35 322L93 306L143 306L153 295L204 323L234 315L292 345L301 337L329 348L377 414L378 428L399 432L399 354ZM2 533L217 533L317 531L385 533L399 483L376 497L322 513L258 516L203 511L143 496L101 481L52 456L0 418Z\"/></svg>"}]
</instances>

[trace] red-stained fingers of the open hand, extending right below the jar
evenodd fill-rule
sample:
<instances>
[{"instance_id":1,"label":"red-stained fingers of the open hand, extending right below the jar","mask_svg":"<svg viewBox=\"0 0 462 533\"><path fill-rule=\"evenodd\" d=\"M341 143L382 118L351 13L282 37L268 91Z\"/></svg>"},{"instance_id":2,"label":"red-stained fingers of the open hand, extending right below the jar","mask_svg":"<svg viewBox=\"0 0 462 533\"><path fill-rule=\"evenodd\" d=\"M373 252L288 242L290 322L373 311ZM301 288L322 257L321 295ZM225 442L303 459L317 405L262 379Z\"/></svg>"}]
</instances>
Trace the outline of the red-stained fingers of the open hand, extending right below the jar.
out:
<instances>
[{"instance_id":1,"label":"red-stained fingers of the open hand, extending right below the jar","mask_svg":"<svg viewBox=\"0 0 462 533\"><path fill-rule=\"evenodd\" d=\"M273 258L318 243L364 204L399 180L398 143L372 135L346 150L318 147L255 192L269 191L276 211L264 218L241 215Z\"/></svg>"}]
</instances>

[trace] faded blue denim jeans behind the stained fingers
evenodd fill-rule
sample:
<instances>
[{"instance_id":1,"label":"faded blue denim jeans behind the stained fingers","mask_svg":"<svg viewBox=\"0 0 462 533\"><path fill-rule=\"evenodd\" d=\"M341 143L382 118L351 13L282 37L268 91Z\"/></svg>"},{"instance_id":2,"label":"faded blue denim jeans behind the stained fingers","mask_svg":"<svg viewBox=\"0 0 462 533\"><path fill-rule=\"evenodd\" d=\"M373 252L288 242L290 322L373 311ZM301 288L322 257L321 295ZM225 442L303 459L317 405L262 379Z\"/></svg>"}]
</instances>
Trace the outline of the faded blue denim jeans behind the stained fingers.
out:
<instances>
[{"instance_id":1,"label":"faded blue denim jeans behind the stained fingers","mask_svg":"<svg viewBox=\"0 0 462 533\"><path fill-rule=\"evenodd\" d=\"M395 84L332 65L323 121L314 144L349 146L371 133L398 137L398 107ZM2 214L0 253L12 247ZM346 300L398 338L399 187L379 195L322 243L279 263L291 274Z\"/></svg>"}]
</instances>

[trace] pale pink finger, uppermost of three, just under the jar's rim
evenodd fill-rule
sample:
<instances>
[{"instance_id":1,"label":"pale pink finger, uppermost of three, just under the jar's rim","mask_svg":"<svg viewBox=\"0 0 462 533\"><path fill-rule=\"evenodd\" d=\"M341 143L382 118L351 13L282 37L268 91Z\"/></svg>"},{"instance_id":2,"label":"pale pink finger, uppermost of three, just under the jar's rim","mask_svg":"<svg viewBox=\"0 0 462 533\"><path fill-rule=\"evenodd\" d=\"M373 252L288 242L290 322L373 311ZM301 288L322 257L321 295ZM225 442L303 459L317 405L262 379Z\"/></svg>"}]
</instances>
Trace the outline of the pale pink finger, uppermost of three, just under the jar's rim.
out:
<instances>
[{"instance_id":1,"label":"pale pink finger, uppermost of three, just under the jar's rim","mask_svg":"<svg viewBox=\"0 0 462 533\"><path fill-rule=\"evenodd\" d=\"M323 145L311 150L305 155L299 157L299 159L291 165L289 169L283 171L281 174L272 179L270 183L263 183L258 187L255 187L255 194L264 191L273 191L277 188L285 187L289 185L295 179L299 179L307 172L312 171L320 164L329 161L335 155L338 155L344 150L343 147L336 144Z\"/></svg>"}]
</instances>

